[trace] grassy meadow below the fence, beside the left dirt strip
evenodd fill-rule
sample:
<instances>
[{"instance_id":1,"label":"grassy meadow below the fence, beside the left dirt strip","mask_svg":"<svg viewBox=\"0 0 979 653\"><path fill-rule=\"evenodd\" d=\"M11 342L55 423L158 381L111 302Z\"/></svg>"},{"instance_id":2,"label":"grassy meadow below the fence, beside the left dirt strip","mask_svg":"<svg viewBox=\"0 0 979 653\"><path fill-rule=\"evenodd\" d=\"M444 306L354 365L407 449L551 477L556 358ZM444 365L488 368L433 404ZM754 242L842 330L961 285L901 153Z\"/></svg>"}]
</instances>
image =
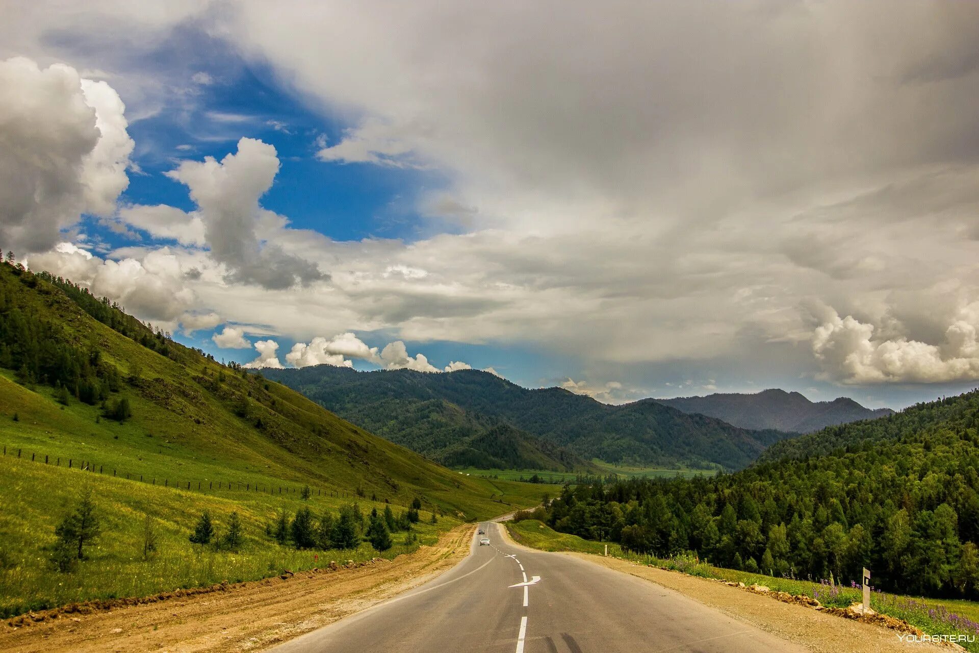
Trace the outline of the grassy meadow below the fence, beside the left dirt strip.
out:
<instances>
[{"instance_id":1,"label":"grassy meadow below the fence, beside the left dirt strip","mask_svg":"<svg viewBox=\"0 0 979 653\"><path fill-rule=\"evenodd\" d=\"M49 561L54 527L69 512L78 489L89 485L95 497L102 534L87 549L88 559L68 574ZM350 499L346 499L350 500ZM227 581L255 581L281 574L325 567L331 560L362 561L375 556L393 558L420 544L432 544L440 533L458 525L451 517L430 524L431 513L413 527L418 540L406 543L396 533L395 546L379 553L364 542L353 550L297 550L280 546L265 534L279 510L289 514L308 506L317 516L336 513L345 501L338 497L269 496L235 492L215 496L165 489L64 467L45 466L0 456L0 616L41 610L96 598L137 597L180 588ZM383 503L359 499L365 512ZM192 544L188 536L205 510L214 516L218 534L227 517L237 511L245 527L238 552ZM399 508L398 508L399 509ZM143 558L143 525L150 515L158 536L157 552Z\"/></svg>"}]
</instances>

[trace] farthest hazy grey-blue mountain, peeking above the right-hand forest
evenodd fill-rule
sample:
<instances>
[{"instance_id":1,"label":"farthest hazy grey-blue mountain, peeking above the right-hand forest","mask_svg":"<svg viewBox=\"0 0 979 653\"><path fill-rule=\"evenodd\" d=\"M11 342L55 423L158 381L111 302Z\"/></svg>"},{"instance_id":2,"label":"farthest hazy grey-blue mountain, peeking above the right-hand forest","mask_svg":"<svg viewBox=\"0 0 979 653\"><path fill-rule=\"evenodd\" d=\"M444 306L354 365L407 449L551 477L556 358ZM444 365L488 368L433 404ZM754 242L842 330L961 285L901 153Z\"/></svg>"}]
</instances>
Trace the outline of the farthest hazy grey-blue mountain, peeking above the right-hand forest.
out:
<instances>
[{"instance_id":1,"label":"farthest hazy grey-blue mountain, peeking above the right-hand forest","mask_svg":"<svg viewBox=\"0 0 979 653\"><path fill-rule=\"evenodd\" d=\"M864 408L846 396L832 401L810 401L799 393L777 389L755 395L731 393L655 400L685 413L717 417L744 429L795 433L812 433L827 426L884 417L894 412L890 408Z\"/></svg>"}]
</instances>

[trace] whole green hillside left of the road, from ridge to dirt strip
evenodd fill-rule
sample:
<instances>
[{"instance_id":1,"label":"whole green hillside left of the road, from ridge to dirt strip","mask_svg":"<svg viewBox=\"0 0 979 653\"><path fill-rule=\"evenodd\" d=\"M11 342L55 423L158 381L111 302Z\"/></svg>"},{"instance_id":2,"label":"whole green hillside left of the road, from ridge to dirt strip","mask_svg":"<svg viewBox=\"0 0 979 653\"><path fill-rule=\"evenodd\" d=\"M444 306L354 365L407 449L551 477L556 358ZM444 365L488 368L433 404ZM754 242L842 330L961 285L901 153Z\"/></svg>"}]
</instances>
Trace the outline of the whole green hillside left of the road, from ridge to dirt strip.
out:
<instances>
[{"instance_id":1,"label":"whole green hillside left of the road, from ridge to dirt strip","mask_svg":"<svg viewBox=\"0 0 979 653\"><path fill-rule=\"evenodd\" d=\"M94 316L94 317L93 317ZM98 319L96 319L98 318ZM0 265L0 613L89 597L245 580L323 565L336 553L265 533L284 510L316 519L421 503L428 521L385 554L459 520L531 505L547 486L467 478L351 425L298 393L215 362L67 282ZM82 464L85 471L79 471ZM174 489L177 486L179 490ZM301 490L309 486L311 497ZM78 569L52 570L55 527L89 487L104 534ZM231 512L244 548L187 539ZM160 549L138 551L150 515ZM200 550L199 550L200 549ZM342 559L377 555L367 542Z\"/></svg>"}]
</instances>

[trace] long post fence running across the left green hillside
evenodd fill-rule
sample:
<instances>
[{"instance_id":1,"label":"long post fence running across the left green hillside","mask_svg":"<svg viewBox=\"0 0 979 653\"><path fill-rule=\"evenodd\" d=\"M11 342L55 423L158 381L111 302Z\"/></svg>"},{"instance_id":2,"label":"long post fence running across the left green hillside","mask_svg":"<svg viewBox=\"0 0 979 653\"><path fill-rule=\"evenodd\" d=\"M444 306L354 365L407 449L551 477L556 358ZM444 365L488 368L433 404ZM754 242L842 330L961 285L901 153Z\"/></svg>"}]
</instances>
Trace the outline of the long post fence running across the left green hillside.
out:
<instances>
[{"instance_id":1,"label":"long post fence running across the left green hillside","mask_svg":"<svg viewBox=\"0 0 979 653\"><path fill-rule=\"evenodd\" d=\"M351 493L341 490L329 490L322 488L312 488L310 486L295 487L295 486L283 486L283 485L272 485L269 483L256 483L253 481L236 481L231 479L205 479L205 480L176 480L169 478L160 478L147 474L135 474L132 472L127 472L124 470L119 470L116 467L106 467L104 464L96 463L92 460L85 460L82 458L71 458L62 456L53 456L47 453L39 453L37 451L26 451L23 447L8 446L3 445L3 455L15 456L21 460L26 460L30 457L30 461L42 465L54 465L56 467L67 467L68 469L76 469L81 472L90 472L92 474L102 474L102 475L112 475L117 479L125 479L127 481L135 481L138 483L145 483L153 486L160 486L162 488L172 488L174 490L198 490L198 491L213 491L213 490L229 490L229 491L244 491L244 492L257 492L257 493L267 493L271 495L297 495L302 496L303 490L309 488L309 496L336 496L336 497L350 497ZM43 460L42 460L43 456Z\"/></svg>"}]
</instances>

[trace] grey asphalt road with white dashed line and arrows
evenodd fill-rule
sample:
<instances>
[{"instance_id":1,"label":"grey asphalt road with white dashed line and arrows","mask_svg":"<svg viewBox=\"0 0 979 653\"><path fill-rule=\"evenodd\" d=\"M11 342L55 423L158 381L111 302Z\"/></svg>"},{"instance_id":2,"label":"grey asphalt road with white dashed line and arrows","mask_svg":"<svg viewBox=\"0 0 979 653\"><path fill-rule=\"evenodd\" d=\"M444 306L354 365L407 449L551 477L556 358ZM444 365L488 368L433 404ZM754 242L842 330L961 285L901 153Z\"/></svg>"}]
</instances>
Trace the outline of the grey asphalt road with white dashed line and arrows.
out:
<instances>
[{"instance_id":1,"label":"grey asphalt road with white dashed line and arrows","mask_svg":"<svg viewBox=\"0 0 979 653\"><path fill-rule=\"evenodd\" d=\"M470 555L430 583L276 653L794 653L806 649L671 589L509 543L481 525ZM523 584L529 583L529 584Z\"/></svg>"}]
</instances>

